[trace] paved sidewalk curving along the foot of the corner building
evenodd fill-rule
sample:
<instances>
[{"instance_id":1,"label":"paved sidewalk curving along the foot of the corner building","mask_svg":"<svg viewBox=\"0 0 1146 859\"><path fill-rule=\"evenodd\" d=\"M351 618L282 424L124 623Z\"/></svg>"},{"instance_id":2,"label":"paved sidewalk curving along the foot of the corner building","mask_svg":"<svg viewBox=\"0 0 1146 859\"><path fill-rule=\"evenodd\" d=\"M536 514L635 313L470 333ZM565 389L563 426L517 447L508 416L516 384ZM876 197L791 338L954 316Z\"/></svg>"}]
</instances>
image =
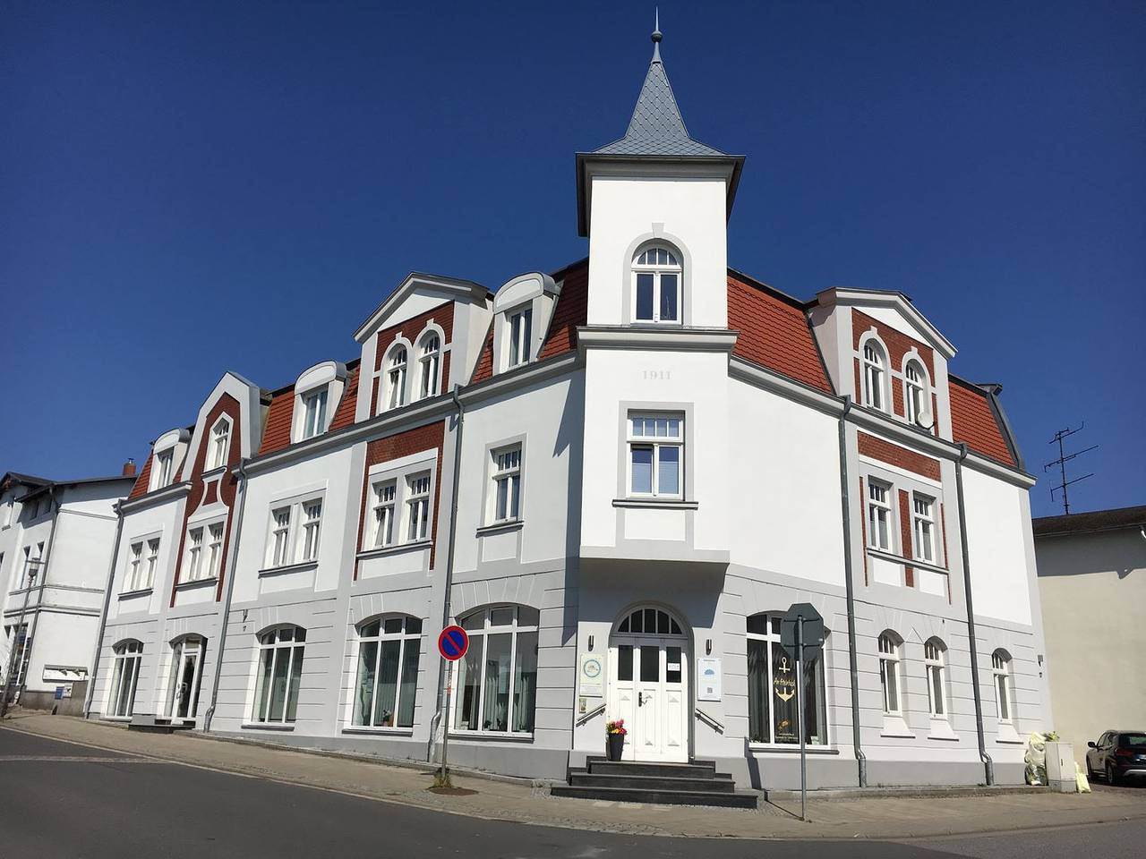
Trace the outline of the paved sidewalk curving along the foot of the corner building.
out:
<instances>
[{"instance_id":1,"label":"paved sidewalk curving along the foot of the corner building","mask_svg":"<svg viewBox=\"0 0 1146 859\"><path fill-rule=\"evenodd\" d=\"M527 783L455 775L455 787L476 793L441 796L426 790L432 773L293 749L267 748L202 734L147 734L66 716L29 715L0 727L179 764L305 785L379 802L542 826L630 835L747 838L905 840L1146 818L1146 788L1092 794L1000 793L994 796L918 798L809 798L801 822L799 799L760 811L636 805L565 799ZM794 812L794 813L793 813Z\"/></svg>"}]
</instances>

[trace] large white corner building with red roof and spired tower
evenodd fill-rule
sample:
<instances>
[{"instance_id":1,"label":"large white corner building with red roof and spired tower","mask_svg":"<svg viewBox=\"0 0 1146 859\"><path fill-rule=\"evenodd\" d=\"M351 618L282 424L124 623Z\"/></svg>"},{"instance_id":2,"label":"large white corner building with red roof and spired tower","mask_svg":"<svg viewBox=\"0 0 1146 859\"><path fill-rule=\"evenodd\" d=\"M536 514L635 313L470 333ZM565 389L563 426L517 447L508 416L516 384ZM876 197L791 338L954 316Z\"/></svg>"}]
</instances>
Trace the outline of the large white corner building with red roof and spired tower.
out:
<instances>
[{"instance_id":1,"label":"large white corner building with red roof and spired tower","mask_svg":"<svg viewBox=\"0 0 1146 859\"><path fill-rule=\"evenodd\" d=\"M743 166L654 54L576 156L586 260L414 273L353 361L223 377L121 506L92 715L410 761L448 724L454 764L547 779L625 718L628 758L792 787L811 602L814 787L1021 782L1050 706L999 388L901 293L730 268Z\"/></svg>"}]
</instances>

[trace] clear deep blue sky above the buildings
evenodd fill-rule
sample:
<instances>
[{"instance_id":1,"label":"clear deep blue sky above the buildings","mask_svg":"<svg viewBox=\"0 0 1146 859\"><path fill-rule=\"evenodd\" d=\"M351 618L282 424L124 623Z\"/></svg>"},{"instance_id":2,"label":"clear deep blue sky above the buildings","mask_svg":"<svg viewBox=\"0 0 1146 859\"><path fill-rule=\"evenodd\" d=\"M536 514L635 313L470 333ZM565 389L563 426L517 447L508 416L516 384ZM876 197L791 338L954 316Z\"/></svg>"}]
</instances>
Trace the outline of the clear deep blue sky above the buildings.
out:
<instances>
[{"instance_id":1,"label":"clear deep blue sky above the buildings","mask_svg":"<svg viewBox=\"0 0 1146 859\"><path fill-rule=\"evenodd\" d=\"M661 2L694 137L747 156L729 261L902 290L1000 381L1031 472L1146 503L1146 6ZM652 2L6 5L0 470L113 473L233 369L355 354L410 269L587 253ZM1080 471L1078 473L1082 473ZM1054 512L1049 480L1036 515Z\"/></svg>"}]
</instances>

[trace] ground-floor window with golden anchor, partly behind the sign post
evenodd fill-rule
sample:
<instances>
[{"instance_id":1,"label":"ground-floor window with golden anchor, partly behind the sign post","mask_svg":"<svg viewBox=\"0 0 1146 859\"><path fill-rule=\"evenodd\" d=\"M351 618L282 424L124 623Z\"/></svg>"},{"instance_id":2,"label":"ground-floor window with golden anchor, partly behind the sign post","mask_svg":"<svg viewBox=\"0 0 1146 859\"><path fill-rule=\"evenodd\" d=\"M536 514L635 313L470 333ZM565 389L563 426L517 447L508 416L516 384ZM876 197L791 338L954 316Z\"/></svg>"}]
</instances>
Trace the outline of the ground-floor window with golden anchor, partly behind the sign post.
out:
<instances>
[{"instance_id":1,"label":"ground-floor window with golden anchor, partly behind the sign post","mask_svg":"<svg viewBox=\"0 0 1146 859\"><path fill-rule=\"evenodd\" d=\"M747 620L748 741L799 743L795 655L780 645L778 615L758 614ZM827 742L823 654L803 670L804 740Z\"/></svg>"}]
</instances>

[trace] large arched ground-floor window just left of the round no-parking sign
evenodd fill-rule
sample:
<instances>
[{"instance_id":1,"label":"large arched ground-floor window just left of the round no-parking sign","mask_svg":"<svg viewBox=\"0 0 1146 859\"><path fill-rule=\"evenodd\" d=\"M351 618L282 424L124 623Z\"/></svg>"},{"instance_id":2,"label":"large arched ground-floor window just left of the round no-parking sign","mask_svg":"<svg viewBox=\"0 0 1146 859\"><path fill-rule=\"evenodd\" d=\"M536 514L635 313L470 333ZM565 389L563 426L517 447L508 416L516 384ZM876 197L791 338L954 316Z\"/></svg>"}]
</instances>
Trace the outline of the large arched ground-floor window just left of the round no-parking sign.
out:
<instances>
[{"instance_id":1,"label":"large arched ground-floor window just left of the round no-parking sign","mask_svg":"<svg viewBox=\"0 0 1146 859\"><path fill-rule=\"evenodd\" d=\"M418 688L422 621L384 617L359 626L355 725L413 727Z\"/></svg>"}]
</instances>

